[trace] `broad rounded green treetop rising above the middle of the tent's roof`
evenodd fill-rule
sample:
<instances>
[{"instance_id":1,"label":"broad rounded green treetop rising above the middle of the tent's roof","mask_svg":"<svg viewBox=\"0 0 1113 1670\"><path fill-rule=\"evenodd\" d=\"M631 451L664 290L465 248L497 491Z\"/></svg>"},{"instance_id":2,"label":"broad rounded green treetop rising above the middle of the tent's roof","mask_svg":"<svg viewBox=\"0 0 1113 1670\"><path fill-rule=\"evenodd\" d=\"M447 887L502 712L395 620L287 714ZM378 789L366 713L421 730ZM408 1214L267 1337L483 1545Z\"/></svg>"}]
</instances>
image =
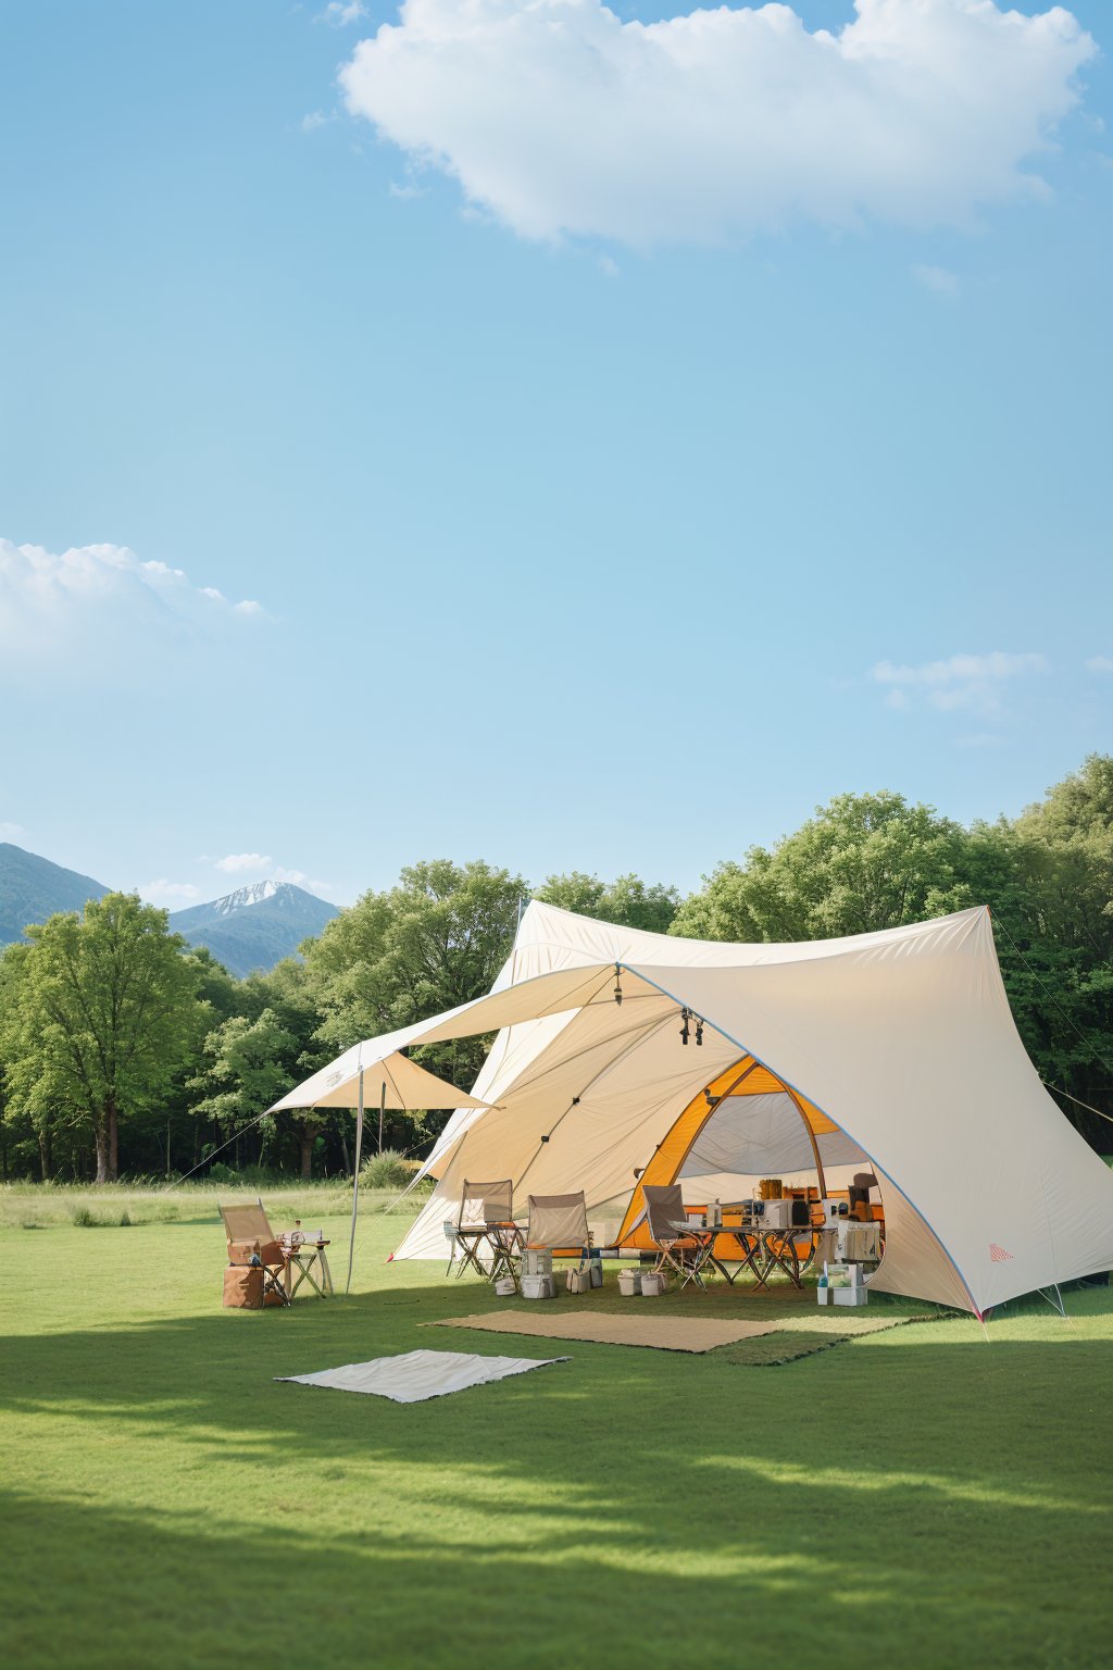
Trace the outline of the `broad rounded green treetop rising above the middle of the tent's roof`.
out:
<instances>
[{"instance_id":1,"label":"broad rounded green treetop rising above the middle of the tent's roof","mask_svg":"<svg viewBox=\"0 0 1113 1670\"><path fill-rule=\"evenodd\" d=\"M919 922L961 873L964 840L958 823L903 795L836 795L773 850L721 863L672 932L786 942Z\"/></svg>"}]
</instances>

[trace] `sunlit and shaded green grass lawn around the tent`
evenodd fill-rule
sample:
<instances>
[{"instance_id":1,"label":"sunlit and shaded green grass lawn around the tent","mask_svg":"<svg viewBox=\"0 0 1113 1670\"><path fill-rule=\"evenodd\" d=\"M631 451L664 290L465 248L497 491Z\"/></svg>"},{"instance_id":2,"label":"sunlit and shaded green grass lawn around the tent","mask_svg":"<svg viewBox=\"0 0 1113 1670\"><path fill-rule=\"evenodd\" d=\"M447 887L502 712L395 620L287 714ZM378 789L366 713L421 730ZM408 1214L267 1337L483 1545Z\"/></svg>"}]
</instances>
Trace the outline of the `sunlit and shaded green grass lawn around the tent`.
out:
<instances>
[{"instance_id":1,"label":"sunlit and shaded green grass lawn around the tent","mask_svg":"<svg viewBox=\"0 0 1113 1670\"><path fill-rule=\"evenodd\" d=\"M264 1197L342 1276L342 1191ZM427 1329L501 1301L387 1264L404 1227L365 1219L349 1299L222 1311L215 1191L0 1189L7 1663L1110 1662L1108 1291L753 1366ZM637 1303L811 1326L557 1301ZM272 1379L419 1346L571 1361L414 1406Z\"/></svg>"}]
</instances>

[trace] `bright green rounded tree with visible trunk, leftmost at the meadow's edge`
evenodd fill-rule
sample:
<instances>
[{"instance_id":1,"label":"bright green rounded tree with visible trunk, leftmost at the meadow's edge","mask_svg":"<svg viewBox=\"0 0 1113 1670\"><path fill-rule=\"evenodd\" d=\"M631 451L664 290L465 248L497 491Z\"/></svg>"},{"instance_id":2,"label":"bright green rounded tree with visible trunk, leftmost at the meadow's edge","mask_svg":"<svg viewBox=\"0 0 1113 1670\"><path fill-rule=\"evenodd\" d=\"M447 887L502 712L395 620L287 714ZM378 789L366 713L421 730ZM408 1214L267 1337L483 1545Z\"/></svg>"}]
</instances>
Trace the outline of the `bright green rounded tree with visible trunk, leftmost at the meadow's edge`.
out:
<instances>
[{"instance_id":1,"label":"bright green rounded tree with visible trunk, leftmost at the meadow's edge","mask_svg":"<svg viewBox=\"0 0 1113 1670\"><path fill-rule=\"evenodd\" d=\"M199 965L165 910L133 893L27 937L5 1024L8 1102L40 1131L92 1132L97 1181L115 1182L120 1122L169 1094L204 1035Z\"/></svg>"}]
</instances>

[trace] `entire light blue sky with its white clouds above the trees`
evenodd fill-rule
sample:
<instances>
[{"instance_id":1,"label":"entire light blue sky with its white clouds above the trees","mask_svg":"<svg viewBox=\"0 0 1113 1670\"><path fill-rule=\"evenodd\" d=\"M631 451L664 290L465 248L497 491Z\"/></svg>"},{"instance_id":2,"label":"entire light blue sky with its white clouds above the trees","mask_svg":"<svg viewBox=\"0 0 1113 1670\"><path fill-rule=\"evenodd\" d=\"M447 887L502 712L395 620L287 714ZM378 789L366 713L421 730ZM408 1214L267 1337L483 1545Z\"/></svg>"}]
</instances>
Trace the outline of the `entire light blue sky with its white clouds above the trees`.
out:
<instances>
[{"instance_id":1,"label":"entire light blue sky with its white clouds above the trees","mask_svg":"<svg viewBox=\"0 0 1113 1670\"><path fill-rule=\"evenodd\" d=\"M1108 10L546 3L0 12L0 838L687 888L1110 748Z\"/></svg>"}]
</instances>

